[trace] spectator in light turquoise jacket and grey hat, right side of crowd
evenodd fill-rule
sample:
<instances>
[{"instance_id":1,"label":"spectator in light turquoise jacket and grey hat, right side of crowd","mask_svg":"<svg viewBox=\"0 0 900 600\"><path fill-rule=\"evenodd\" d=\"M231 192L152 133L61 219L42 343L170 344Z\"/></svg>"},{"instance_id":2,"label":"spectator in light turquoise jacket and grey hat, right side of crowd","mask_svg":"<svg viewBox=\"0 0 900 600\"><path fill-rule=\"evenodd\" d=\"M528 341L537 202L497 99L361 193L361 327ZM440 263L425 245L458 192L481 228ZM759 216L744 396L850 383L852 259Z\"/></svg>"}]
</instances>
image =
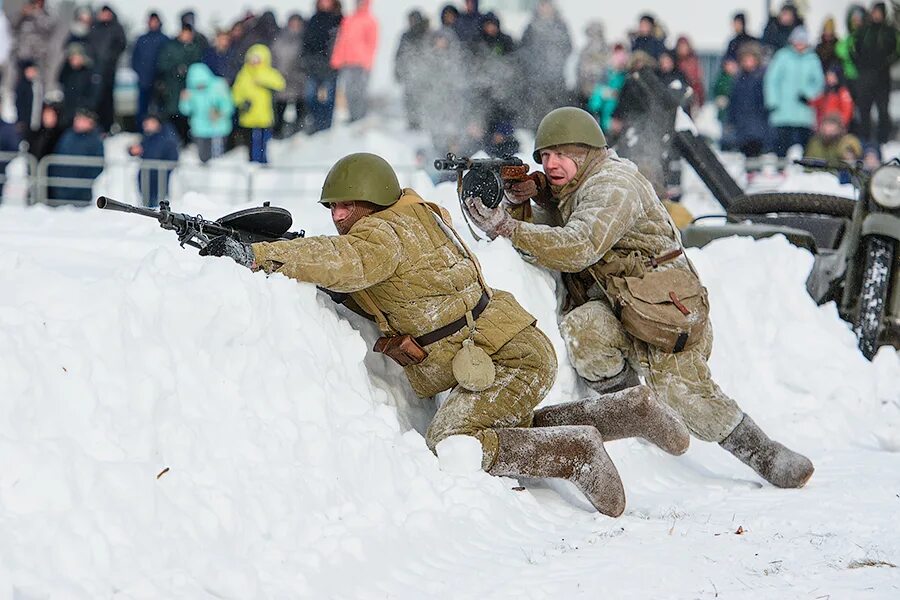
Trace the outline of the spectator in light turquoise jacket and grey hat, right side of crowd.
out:
<instances>
[{"instance_id":1,"label":"spectator in light turquoise jacket and grey hat, right side of crowd","mask_svg":"<svg viewBox=\"0 0 900 600\"><path fill-rule=\"evenodd\" d=\"M769 124L775 129L775 152L780 157L800 144L806 147L816 126L816 112L809 105L825 89L822 62L809 47L809 33L797 27L788 45L775 53L764 79Z\"/></svg>"}]
</instances>

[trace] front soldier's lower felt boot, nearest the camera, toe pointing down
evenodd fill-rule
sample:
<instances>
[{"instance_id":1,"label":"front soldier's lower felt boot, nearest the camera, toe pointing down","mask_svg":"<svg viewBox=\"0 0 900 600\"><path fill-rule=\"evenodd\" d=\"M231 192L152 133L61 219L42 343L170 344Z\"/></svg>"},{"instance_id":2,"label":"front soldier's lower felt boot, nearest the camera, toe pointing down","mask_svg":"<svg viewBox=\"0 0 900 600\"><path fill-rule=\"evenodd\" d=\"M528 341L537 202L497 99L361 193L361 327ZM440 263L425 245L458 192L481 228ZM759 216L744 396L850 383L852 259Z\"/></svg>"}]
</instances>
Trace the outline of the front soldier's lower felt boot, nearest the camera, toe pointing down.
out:
<instances>
[{"instance_id":1,"label":"front soldier's lower felt boot, nearest the camera, toe pointing down","mask_svg":"<svg viewBox=\"0 0 900 600\"><path fill-rule=\"evenodd\" d=\"M515 427L495 429L497 460L488 469L502 477L568 479L598 511L618 517L625 490L595 427Z\"/></svg>"}]
</instances>

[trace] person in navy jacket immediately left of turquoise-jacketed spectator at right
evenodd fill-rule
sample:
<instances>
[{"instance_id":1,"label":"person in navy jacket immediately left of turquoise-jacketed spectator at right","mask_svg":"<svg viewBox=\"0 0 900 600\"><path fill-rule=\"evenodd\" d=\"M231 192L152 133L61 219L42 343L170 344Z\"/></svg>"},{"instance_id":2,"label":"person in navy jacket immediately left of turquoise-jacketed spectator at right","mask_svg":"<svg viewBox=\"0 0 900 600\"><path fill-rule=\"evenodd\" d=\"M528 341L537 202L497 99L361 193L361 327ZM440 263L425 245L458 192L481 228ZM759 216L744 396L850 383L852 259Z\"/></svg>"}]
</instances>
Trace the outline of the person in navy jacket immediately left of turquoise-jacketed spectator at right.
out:
<instances>
[{"instance_id":1,"label":"person in navy jacket immediately left of turquoise-jacketed spectator at right","mask_svg":"<svg viewBox=\"0 0 900 600\"><path fill-rule=\"evenodd\" d=\"M734 132L738 149L747 157L768 150L771 132L769 111L763 94L762 47L748 42L738 50L741 70L728 97L725 122Z\"/></svg>"}]
</instances>

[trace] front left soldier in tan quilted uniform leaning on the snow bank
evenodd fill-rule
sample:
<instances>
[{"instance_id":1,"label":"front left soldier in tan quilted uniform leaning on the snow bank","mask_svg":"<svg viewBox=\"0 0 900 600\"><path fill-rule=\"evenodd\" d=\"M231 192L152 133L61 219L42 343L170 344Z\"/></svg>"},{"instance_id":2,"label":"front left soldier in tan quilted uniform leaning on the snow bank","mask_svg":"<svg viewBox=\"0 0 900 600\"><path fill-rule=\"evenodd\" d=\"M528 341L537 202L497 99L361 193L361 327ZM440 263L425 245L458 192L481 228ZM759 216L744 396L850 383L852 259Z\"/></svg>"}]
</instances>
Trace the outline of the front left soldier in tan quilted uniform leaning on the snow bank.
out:
<instances>
[{"instance_id":1,"label":"front left soldier in tan quilted uniform leaning on the snow bank","mask_svg":"<svg viewBox=\"0 0 900 600\"><path fill-rule=\"evenodd\" d=\"M383 159L338 161L320 202L340 235L252 247L223 237L205 253L349 294L348 305L385 336L376 351L403 366L419 396L451 390L428 429L429 448L473 436L488 473L568 479L612 516L625 497L604 440L643 437L674 454L687 448L687 430L645 387L572 403L579 409L566 419L549 409L535 415L556 378L552 345L511 294L487 286L447 214L401 189ZM535 420L546 426L532 427Z\"/></svg>"}]
</instances>

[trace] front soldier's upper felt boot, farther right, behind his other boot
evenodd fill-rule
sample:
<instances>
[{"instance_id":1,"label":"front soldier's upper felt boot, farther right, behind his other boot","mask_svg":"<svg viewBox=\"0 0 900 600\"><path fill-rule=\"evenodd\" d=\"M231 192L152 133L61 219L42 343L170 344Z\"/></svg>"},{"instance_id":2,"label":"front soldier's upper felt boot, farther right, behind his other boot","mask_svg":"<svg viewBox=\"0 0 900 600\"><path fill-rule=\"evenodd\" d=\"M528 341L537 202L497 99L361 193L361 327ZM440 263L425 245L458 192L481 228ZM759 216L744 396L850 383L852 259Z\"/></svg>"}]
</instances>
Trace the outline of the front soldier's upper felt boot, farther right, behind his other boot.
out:
<instances>
[{"instance_id":1,"label":"front soldier's upper felt boot, farther right, behind his other boot","mask_svg":"<svg viewBox=\"0 0 900 600\"><path fill-rule=\"evenodd\" d=\"M535 427L593 425L607 442L640 437L669 454L684 454L691 434L671 408L639 385L615 394L566 402L536 410Z\"/></svg>"}]
</instances>

